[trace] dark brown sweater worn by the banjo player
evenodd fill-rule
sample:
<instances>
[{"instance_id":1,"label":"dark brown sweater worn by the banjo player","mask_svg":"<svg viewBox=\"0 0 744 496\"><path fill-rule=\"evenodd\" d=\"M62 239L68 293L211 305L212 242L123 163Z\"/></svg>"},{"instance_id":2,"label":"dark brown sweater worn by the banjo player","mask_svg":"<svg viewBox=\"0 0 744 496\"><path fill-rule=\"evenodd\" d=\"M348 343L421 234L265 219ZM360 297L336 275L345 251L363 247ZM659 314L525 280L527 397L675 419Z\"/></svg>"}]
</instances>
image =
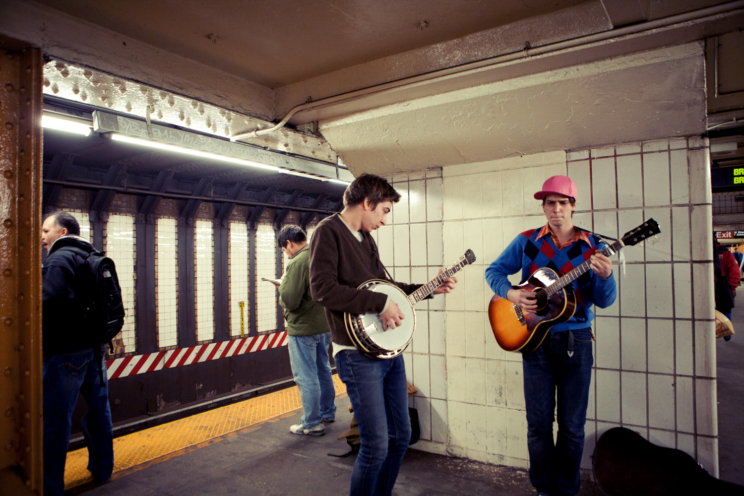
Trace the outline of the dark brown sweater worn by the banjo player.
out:
<instances>
[{"instance_id":1,"label":"dark brown sweater worn by the banjo player","mask_svg":"<svg viewBox=\"0 0 744 496\"><path fill-rule=\"evenodd\" d=\"M312 233L310 243L310 293L325 307L334 343L353 346L344 326L344 312L382 312L388 297L357 286L370 279L385 279L385 269L376 256L377 245L370 233L361 242L346 227L339 214L324 219ZM395 283L405 294L420 284Z\"/></svg>"}]
</instances>

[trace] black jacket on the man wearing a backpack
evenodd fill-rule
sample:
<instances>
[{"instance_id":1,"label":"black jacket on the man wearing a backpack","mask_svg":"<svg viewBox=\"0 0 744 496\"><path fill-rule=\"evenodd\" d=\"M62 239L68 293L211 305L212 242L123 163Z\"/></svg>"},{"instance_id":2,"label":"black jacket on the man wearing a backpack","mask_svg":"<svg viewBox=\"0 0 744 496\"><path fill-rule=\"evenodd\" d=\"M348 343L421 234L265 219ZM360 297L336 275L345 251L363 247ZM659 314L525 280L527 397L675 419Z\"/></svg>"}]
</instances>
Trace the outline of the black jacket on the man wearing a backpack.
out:
<instances>
[{"instance_id":1,"label":"black jacket on the man wearing a backpack","mask_svg":"<svg viewBox=\"0 0 744 496\"><path fill-rule=\"evenodd\" d=\"M87 266L80 255L65 247L86 253L96 251L80 236L62 236L52 243L42 265L42 352L44 356L86 350L100 344L83 323L91 301Z\"/></svg>"}]
</instances>

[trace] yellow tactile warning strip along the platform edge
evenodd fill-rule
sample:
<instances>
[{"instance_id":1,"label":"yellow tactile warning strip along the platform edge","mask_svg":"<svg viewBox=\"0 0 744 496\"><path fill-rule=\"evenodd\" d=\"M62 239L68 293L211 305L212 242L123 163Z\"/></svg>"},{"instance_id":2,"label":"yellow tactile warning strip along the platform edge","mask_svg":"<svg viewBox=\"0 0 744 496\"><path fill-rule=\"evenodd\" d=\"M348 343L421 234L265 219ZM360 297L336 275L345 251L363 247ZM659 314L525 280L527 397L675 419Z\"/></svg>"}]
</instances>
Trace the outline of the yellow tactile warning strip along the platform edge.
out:
<instances>
[{"instance_id":1,"label":"yellow tactile warning strip along the platform edge","mask_svg":"<svg viewBox=\"0 0 744 496\"><path fill-rule=\"evenodd\" d=\"M338 375L333 376L333 384L336 386L336 394L346 392L346 387ZM150 460L175 454L177 451L185 453L187 452L185 448L201 448L200 443L211 444L205 441L225 436L225 434L239 431L298 408L302 408L302 402L300 392L297 386L294 386L117 437L114 439L114 474L112 477L117 477L117 474L122 472L129 473L138 470L137 466L143 466ZM65 489L93 480L87 466L88 448L80 448L67 454Z\"/></svg>"}]
</instances>

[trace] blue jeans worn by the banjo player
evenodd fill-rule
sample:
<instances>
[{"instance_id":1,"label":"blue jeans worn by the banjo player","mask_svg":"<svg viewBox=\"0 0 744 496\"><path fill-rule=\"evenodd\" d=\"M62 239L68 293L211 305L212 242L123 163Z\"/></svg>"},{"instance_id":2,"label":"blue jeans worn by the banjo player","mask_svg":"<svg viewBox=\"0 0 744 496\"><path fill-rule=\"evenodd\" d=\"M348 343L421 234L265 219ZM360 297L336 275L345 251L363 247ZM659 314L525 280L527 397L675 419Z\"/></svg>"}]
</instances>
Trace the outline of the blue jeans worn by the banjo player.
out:
<instances>
[{"instance_id":1,"label":"blue jeans worn by the banjo player","mask_svg":"<svg viewBox=\"0 0 744 496\"><path fill-rule=\"evenodd\" d=\"M403 356L375 360L343 350L336 355L336 368L346 384L361 442L349 494L390 496L411 440Z\"/></svg>"}]
</instances>

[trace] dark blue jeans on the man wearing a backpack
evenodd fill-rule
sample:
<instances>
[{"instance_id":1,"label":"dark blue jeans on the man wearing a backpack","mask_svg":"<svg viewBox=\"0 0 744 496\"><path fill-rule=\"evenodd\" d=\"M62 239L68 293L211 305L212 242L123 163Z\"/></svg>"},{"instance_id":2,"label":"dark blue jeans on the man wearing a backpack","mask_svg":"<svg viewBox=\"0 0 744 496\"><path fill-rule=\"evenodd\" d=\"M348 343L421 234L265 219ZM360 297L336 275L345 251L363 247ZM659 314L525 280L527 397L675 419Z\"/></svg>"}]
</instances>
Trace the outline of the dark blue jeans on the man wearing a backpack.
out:
<instances>
[{"instance_id":1,"label":"dark blue jeans on the man wearing a backpack","mask_svg":"<svg viewBox=\"0 0 744 496\"><path fill-rule=\"evenodd\" d=\"M97 482L111 478L114 445L109 379L106 377L106 362L101 365L96 355L95 349L90 348L43 358L45 495L62 496L65 489L72 410L79 394L88 405L82 422L83 436L88 445L88 470ZM101 367L103 384L100 383Z\"/></svg>"}]
</instances>

